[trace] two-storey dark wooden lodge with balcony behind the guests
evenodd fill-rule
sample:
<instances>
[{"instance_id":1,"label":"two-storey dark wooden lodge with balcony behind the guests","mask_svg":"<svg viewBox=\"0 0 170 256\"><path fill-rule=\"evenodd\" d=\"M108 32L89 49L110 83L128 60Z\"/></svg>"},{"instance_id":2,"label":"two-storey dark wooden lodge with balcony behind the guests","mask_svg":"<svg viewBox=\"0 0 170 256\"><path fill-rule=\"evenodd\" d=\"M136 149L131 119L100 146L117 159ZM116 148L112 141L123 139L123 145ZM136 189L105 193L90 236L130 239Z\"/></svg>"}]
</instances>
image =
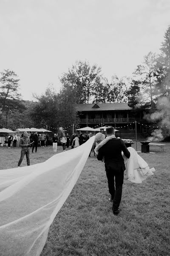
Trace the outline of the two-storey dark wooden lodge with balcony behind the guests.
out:
<instances>
[{"instance_id":1,"label":"two-storey dark wooden lodge with balcony behind the guests","mask_svg":"<svg viewBox=\"0 0 170 256\"><path fill-rule=\"evenodd\" d=\"M80 128L89 126L113 126L119 130L116 135L122 138L135 138L135 121L138 137L143 138L146 132L143 122L143 111L137 111L127 103L93 103L77 104Z\"/></svg>"}]
</instances>

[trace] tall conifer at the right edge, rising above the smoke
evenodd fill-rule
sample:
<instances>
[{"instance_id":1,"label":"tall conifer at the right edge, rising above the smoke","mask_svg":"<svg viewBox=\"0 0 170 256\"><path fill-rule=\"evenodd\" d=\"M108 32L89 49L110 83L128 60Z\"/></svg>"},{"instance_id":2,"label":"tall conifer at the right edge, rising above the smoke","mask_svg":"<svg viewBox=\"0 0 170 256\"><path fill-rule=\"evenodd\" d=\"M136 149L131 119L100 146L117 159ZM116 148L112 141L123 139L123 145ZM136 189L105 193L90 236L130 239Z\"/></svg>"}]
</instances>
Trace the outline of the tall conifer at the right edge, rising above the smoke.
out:
<instances>
[{"instance_id":1,"label":"tall conifer at the right edge, rising above the smoke","mask_svg":"<svg viewBox=\"0 0 170 256\"><path fill-rule=\"evenodd\" d=\"M168 96L170 95L170 26L165 32L160 50L161 54L155 64L156 89L158 96Z\"/></svg>"}]
</instances>

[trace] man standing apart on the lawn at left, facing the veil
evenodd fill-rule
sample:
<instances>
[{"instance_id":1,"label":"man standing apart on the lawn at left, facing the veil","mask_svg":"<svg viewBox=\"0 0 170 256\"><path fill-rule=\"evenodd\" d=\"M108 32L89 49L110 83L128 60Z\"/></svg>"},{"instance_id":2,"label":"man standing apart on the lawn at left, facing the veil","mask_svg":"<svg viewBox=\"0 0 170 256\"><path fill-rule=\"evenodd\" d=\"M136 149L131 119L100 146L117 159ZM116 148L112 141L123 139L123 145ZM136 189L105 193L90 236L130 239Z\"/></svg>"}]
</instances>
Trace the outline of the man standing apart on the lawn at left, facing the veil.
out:
<instances>
[{"instance_id":1,"label":"man standing apart on the lawn at left, facing the veil","mask_svg":"<svg viewBox=\"0 0 170 256\"><path fill-rule=\"evenodd\" d=\"M18 167L20 167L20 164L22 163L25 154L26 154L27 166L29 166L30 165L30 160L29 160L30 139L28 138L27 131L24 131L23 138L20 138L19 147L21 147L21 156L18 162Z\"/></svg>"}]
</instances>

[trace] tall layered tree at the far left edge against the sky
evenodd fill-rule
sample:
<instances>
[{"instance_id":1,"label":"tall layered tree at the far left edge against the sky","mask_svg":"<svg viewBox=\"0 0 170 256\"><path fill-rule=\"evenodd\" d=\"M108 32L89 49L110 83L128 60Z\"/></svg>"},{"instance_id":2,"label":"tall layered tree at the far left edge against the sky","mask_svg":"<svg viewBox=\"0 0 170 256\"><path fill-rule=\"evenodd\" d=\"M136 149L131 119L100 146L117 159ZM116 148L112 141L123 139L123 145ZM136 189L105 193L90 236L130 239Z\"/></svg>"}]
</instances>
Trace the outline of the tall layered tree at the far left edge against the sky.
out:
<instances>
[{"instance_id":1,"label":"tall layered tree at the far left edge against the sky","mask_svg":"<svg viewBox=\"0 0 170 256\"><path fill-rule=\"evenodd\" d=\"M5 126L7 126L9 113L14 109L23 109L24 106L20 101L21 94L18 92L20 79L17 79L17 74L11 70L4 70L0 75L0 109L6 116Z\"/></svg>"}]
</instances>

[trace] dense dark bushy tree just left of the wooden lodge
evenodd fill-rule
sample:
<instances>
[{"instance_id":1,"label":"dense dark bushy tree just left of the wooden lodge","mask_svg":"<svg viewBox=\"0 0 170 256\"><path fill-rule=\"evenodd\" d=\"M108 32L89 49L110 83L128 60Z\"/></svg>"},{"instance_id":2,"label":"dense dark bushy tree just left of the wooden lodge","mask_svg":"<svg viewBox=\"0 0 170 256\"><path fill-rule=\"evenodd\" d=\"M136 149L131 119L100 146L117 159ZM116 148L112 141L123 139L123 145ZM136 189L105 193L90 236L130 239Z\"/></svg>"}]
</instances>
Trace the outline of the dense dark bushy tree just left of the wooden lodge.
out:
<instances>
[{"instance_id":1,"label":"dense dark bushy tree just left of the wooden lodge","mask_svg":"<svg viewBox=\"0 0 170 256\"><path fill-rule=\"evenodd\" d=\"M48 87L44 95L34 97L38 102L31 109L30 115L36 126L65 128L71 124L78 124L74 92L69 85L62 87L59 93L53 86Z\"/></svg>"}]
</instances>

